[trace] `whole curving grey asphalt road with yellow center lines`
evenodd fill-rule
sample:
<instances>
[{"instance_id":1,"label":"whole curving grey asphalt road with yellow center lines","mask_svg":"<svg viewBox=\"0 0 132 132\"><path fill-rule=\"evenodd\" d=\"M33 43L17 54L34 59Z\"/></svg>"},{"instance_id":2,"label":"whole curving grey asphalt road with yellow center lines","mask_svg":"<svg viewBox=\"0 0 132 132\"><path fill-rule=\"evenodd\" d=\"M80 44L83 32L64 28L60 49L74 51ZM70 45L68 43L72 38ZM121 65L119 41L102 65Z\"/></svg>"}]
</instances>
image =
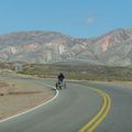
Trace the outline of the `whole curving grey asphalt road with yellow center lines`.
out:
<instances>
[{"instance_id":1,"label":"whole curving grey asphalt road with yellow center lines","mask_svg":"<svg viewBox=\"0 0 132 132\"><path fill-rule=\"evenodd\" d=\"M26 78L30 79L55 84L50 79ZM131 88L103 82L67 82L67 89L61 90L54 101L0 122L0 132L132 132L131 100ZM103 112L96 120L101 109ZM94 123L89 128L90 121Z\"/></svg>"}]
</instances>

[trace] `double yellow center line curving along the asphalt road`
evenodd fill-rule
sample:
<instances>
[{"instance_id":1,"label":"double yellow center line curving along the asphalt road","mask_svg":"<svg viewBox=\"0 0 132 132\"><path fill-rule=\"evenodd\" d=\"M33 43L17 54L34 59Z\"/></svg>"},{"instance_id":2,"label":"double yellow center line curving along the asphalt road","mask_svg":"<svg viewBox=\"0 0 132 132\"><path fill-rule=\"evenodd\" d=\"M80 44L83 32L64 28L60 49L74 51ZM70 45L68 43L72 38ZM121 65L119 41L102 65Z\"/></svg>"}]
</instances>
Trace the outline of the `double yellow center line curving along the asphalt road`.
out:
<instances>
[{"instance_id":1,"label":"double yellow center line curving along the asphalt road","mask_svg":"<svg viewBox=\"0 0 132 132\"><path fill-rule=\"evenodd\" d=\"M96 91L102 97L102 107L99 112L79 130L79 132L92 132L107 117L111 107L111 99L107 92L97 88L90 88L90 90Z\"/></svg>"}]
</instances>

